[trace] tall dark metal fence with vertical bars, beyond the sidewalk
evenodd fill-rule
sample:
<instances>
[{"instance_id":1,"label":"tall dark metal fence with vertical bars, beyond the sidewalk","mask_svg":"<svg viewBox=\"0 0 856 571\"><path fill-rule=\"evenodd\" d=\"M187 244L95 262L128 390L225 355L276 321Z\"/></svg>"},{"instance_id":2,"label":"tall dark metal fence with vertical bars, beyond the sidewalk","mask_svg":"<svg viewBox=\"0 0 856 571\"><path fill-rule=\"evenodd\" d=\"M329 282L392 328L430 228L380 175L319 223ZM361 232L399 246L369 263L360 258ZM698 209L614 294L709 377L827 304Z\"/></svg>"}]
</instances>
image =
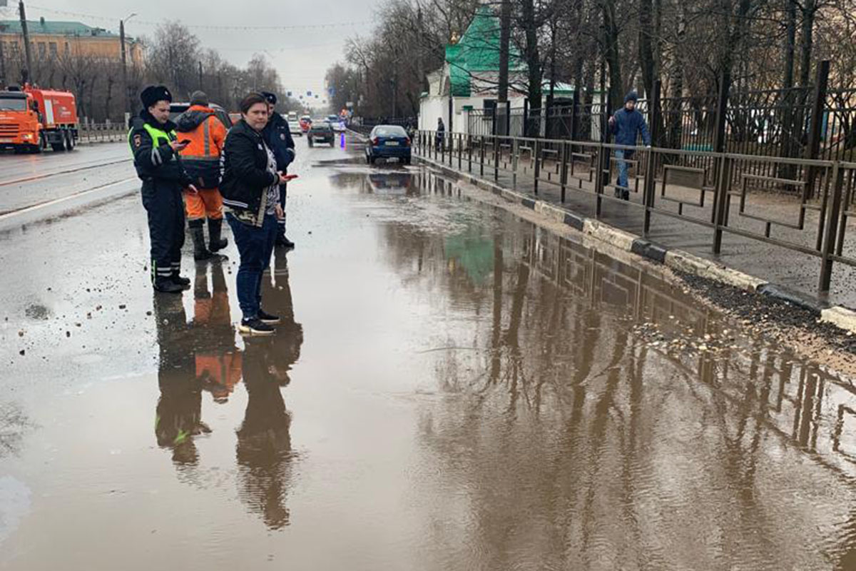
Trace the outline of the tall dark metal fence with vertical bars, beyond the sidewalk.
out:
<instances>
[{"instance_id":1,"label":"tall dark metal fence with vertical bars, beyond the sidewalk","mask_svg":"<svg viewBox=\"0 0 856 571\"><path fill-rule=\"evenodd\" d=\"M681 151L825 160L856 160L856 88L832 89L829 62L820 62L811 86L739 91L728 76L718 93L660 98L659 90L640 99L654 146ZM613 110L608 103L580 100L544 109L528 106L471 110L467 133L550 140L609 142L604 129ZM772 167L758 174L771 175ZM795 175L783 164L776 174Z\"/></svg>"}]
</instances>

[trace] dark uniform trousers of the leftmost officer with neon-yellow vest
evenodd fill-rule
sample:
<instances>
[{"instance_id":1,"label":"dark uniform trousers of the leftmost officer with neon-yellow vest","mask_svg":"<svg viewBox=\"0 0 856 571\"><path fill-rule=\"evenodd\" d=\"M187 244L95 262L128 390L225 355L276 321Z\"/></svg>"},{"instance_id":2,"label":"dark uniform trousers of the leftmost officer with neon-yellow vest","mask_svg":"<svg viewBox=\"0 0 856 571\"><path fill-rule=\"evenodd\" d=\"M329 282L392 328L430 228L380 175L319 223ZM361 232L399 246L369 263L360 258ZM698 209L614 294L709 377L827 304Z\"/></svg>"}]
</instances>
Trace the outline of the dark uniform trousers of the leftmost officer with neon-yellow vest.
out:
<instances>
[{"instance_id":1,"label":"dark uniform trousers of the leftmost officer with neon-yellow vest","mask_svg":"<svg viewBox=\"0 0 856 571\"><path fill-rule=\"evenodd\" d=\"M184 200L181 186L167 181L143 181L143 206L152 241L152 280L166 278L181 267L184 246Z\"/></svg>"}]
</instances>

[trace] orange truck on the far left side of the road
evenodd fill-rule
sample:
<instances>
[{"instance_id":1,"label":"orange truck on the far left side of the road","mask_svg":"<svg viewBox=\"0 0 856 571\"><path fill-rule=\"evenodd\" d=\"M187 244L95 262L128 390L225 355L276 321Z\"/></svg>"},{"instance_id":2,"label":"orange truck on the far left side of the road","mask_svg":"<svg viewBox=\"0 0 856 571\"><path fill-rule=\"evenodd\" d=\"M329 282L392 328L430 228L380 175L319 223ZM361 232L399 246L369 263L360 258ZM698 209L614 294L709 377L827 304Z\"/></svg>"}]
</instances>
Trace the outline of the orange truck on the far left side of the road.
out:
<instances>
[{"instance_id":1,"label":"orange truck on the far left side of the road","mask_svg":"<svg viewBox=\"0 0 856 571\"><path fill-rule=\"evenodd\" d=\"M25 86L0 91L0 148L71 151L77 144L74 94Z\"/></svg>"}]
</instances>

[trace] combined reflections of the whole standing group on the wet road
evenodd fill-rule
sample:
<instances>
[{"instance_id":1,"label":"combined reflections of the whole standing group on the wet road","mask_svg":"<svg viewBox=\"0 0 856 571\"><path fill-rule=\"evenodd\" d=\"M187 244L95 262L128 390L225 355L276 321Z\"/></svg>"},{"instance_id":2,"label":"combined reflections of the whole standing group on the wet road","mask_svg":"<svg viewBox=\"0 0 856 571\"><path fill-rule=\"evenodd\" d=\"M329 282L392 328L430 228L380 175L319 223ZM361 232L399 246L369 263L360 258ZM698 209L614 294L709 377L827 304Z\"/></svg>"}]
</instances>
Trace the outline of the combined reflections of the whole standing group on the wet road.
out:
<instances>
[{"instance_id":1,"label":"combined reflections of the whole standing group on the wet road","mask_svg":"<svg viewBox=\"0 0 856 571\"><path fill-rule=\"evenodd\" d=\"M300 357L303 331L294 321L288 262L277 250L265 280L265 302L281 313L277 335L249 338L243 350L235 346L235 330L229 311L229 294L223 265L211 265L211 288L206 271L193 284L193 318L181 298L154 297L158 324L160 398L155 415L158 446L170 449L179 478L203 486L197 437L211 434L201 418L203 395L226 405L235 385L243 381L247 408L235 431L235 463L238 467L238 497L271 529L288 525L287 497L291 482L291 415L282 388L289 371Z\"/></svg>"}]
</instances>

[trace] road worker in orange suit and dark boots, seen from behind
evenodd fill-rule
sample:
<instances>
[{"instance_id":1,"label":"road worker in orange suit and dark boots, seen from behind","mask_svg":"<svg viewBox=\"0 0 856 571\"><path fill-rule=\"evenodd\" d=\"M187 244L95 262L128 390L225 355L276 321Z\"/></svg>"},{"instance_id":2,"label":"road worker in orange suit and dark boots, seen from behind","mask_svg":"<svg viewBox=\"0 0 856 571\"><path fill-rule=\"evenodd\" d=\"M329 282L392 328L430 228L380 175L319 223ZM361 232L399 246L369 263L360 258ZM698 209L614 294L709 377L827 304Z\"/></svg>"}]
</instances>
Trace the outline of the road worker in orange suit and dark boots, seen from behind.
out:
<instances>
[{"instance_id":1,"label":"road worker in orange suit and dark boots, seen from behind","mask_svg":"<svg viewBox=\"0 0 856 571\"><path fill-rule=\"evenodd\" d=\"M226 140L226 127L209 107L204 92L193 92L190 109L175 120L180 140L189 140L181 152L181 162L199 190L184 193L187 227L193 239L193 259L216 256L229 243L220 237L223 229L223 197L220 184L220 153ZM205 219L208 219L208 247L205 247Z\"/></svg>"}]
</instances>

